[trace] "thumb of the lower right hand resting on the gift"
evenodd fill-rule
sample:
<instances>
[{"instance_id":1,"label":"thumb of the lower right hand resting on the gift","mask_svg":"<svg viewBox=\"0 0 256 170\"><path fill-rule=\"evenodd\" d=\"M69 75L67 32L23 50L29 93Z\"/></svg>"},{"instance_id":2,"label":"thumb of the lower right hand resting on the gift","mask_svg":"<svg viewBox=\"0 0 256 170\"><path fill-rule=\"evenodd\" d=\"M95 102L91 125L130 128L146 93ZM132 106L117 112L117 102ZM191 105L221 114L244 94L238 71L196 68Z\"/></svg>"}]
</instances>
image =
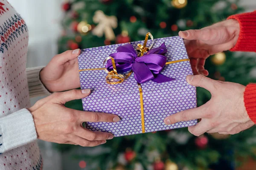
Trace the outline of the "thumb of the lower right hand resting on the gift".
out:
<instances>
[{"instance_id":1,"label":"thumb of the lower right hand resting on the gift","mask_svg":"<svg viewBox=\"0 0 256 170\"><path fill-rule=\"evenodd\" d=\"M218 83L220 83L217 80L210 79L203 75L195 75L195 76L188 75L186 77L186 81L190 85L193 85L195 87L205 88L206 90L211 92L211 94L217 90L216 87L217 87Z\"/></svg>"}]
</instances>

